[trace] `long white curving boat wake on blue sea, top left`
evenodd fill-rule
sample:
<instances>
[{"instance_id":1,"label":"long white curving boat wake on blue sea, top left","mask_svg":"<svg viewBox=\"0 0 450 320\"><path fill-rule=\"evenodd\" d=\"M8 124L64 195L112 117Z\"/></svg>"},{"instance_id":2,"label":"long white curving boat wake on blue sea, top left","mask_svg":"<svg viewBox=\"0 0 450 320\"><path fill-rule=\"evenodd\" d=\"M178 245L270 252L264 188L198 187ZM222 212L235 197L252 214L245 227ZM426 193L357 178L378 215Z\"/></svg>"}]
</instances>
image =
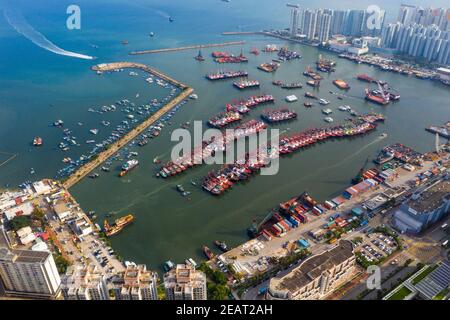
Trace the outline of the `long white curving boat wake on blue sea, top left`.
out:
<instances>
[{"instance_id":1,"label":"long white curving boat wake on blue sea, top left","mask_svg":"<svg viewBox=\"0 0 450 320\"><path fill-rule=\"evenodd\" d=\"M13 27L18 33L23 35L25 38L33 42L35 45L48 50L50 52L79 59L92 60L94 57L84 55L81 53L76 53L72 51L64 50L53 42L48 40L43 34L35 30L28 21L23 17L23 15L14 8L4 8L3 15L6 21L11 27Z\"/></svg>"}]
</instances>

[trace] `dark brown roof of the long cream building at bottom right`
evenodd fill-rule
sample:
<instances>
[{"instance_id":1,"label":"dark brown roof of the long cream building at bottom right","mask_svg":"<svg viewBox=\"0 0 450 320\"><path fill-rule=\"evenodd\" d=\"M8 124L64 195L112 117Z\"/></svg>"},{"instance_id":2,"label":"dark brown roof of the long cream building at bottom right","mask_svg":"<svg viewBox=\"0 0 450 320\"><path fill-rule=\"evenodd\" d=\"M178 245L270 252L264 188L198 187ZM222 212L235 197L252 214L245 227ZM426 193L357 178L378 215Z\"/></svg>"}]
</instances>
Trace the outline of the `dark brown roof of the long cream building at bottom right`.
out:
<instances>
[{"instance_id":1,"label":"dark brown roof of the long cream building at bottom right","mask_svg":"<svg viewBox=\"0 0 450 320\"><path fill-rule=\"evenodd\" d=\"M275 290L296 292L323 272L341 264L353 255L352 243L348 240L341 240L338 246L305 260L287 275L281 278L272 278L270 285Z\"/></svg>"}]
</instances>

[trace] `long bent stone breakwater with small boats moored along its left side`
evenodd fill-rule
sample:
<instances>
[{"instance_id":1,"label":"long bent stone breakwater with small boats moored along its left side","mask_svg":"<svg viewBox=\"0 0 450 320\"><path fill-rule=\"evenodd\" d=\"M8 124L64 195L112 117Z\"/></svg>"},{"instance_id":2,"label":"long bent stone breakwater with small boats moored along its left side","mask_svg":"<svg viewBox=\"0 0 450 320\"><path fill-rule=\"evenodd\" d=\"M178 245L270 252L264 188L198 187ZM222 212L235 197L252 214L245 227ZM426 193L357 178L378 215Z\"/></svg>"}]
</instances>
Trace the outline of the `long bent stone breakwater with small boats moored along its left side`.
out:
<instances>
[{"instance_id":1,"label":"long bent stone breakwater with small boats moored along its left side","mask_svg":"<svg viewBox=\"0 0 450 320\"><path fill-rule=\"evenodd\" d=\"M148 117L142 123L140 123L138 126L133 128L126 135L124 135L120 140L117 140L116 142L109 145L105 150L100 152L97 155L97 157L93 158L92 161L84 164L77 171L75 171L72 175L70 175L63 182L63 186L66 189L69 189L69 188L73 187L75 184L77 184L81 179L83 179L85 176L87 176L92 170L97 168L101 163L103 163L108 158L110 158L115 153L117 153L122 147L126 146L133 139L135 139L137 136L142 134L149 126L151 126L153 123L158 121L164 114L169 112L172 108L174 108L176 105L178 105L183 100L187 99L189 97L189 95L194 92L194 89L192 89L191 87L188 87L187 85L169 77L168 75L165 75L161 71L158 71L154 68L150 68L147 65L140 64L140 63L134 63L134 62L103 63L103 64L93 66L92 70L100 71L100 72L108 72L108 71L114 71L114 70L125 69L125 68L140 69L145 72L148 72L148 73L150 73L158 78L161 78L161 79L171 83L172 85L180 88L181 92L180 92L180 94L178 94L178 96L176 96L174 99L172 99L167 104L165 104L161 109L159 109L157 112L152 114L150 117Z\"/></svg>"}]
</instances>

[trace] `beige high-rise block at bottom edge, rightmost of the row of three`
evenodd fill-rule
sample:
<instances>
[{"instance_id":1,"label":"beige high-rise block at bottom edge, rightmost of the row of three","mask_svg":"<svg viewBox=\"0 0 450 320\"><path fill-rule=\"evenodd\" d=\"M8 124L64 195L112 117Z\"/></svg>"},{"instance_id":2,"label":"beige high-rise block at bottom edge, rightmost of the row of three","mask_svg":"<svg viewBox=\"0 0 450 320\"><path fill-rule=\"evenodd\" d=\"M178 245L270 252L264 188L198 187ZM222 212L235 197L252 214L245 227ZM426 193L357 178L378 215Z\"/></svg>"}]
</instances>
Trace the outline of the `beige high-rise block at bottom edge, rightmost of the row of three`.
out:
<instances>
[{"instance_id":1,"label":"beige high-rise block at bottom edge, rightmost of the row of three","mask_svg":"<svg viewBox=\"0 0 450 320\"><path fill-rule=\"evenodd\" d=\"M178 264L164 275L167 300L206 300L206 275L191 265Z\"/></svg>"}]
</instances>

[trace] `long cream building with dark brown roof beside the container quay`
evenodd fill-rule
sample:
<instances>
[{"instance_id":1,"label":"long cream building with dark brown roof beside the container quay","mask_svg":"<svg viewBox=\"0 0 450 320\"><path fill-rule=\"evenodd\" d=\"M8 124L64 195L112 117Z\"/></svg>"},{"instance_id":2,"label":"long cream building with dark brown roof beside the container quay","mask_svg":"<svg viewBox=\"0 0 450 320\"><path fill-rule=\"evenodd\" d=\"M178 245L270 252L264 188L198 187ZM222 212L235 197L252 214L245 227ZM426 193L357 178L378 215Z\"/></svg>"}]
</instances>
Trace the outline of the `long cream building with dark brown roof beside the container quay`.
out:
<instances>
[{"instance_id":1,"label":"long cream building with dark brown roof beside the container quay","mask_svg":"<svg viewBox=\"0 0 450 320\"><path fill-rule=\"evenodd\" d=\"M282 277L270 280L268 300L324 299L351 279L356 265L353 245L348 240L303 261Z\"/></svg>"}]
</instances>

